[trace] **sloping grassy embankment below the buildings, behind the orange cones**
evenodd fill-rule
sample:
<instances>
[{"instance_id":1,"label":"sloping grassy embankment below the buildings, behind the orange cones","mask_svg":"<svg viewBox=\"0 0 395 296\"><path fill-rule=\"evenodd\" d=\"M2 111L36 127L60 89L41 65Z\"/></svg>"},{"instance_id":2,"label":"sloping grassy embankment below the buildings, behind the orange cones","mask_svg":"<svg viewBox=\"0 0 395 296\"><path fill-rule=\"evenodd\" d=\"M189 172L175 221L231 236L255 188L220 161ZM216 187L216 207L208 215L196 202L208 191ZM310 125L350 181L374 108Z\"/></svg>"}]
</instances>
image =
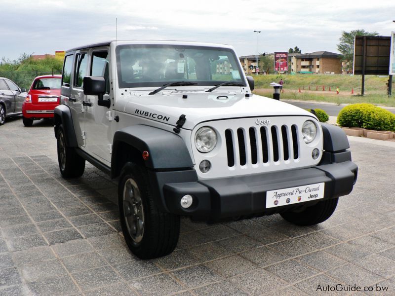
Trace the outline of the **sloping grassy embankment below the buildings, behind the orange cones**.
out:
<instances>
[{"instance_id":1,"label":"sloping grassy embankment below the buildings, behind the orange cones","mask_svg":"<svg viewBox=\"0 0 395 296\"><path fill-rule=\"evenodd\" d=\"M303 87L307 90L310 86L311 90L336 90L339 87L340 91L351 92L354 88L355 93L361 92L361 76L360 75L322 75L322 74L295 74L295 75L254 75L255 88L270 88L269 83L278 82L281 78L284 81L285 89L296 89ZM378 93L385 95L387 92L387 79L388 76L366 75L365 76L365 93ZM393 86L393 89L395 87Z\"/></svg>"}]
</instances>

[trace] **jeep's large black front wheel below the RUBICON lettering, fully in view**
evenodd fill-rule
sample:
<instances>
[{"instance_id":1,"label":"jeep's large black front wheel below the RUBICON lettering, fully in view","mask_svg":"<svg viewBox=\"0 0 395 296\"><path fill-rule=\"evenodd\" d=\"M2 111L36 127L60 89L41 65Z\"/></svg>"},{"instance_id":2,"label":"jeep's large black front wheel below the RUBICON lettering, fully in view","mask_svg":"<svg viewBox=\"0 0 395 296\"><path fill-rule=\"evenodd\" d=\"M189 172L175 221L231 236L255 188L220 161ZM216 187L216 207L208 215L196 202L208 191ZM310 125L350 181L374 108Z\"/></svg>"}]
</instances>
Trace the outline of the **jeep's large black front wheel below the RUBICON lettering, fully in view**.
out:
<instances>
[{"instance_id":1,"label":"jeep's large black front wheel below the RUBICON lettering, fully in view","mask_svg":"<svg viewBox=\"0 0 395 296\"><path fill-rule=\"evenodd\" d=\"M173 252L180 234L180 217L158 210L144 166L131 162L124 165L118 205L123 236L134 255L153 259Z\"/></svg>"}]
</instances>

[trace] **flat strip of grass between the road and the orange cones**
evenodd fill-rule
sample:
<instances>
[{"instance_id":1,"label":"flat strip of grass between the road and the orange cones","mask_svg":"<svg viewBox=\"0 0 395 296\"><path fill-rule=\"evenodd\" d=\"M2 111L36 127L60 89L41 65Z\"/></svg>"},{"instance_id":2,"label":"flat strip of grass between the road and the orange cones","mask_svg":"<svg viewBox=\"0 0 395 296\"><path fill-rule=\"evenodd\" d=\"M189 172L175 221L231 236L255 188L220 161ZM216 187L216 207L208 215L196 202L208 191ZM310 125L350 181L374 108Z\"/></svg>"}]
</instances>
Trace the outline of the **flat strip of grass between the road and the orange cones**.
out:
<instances>
[{"instance_id":1,"label":"flat strip of grass between the road and the orange cones","mask_svg":"<svg viewBox=\"0 0 395 296\"><path fill-rule=\"evenodd\" d=\"M273 90L270 89L256 89L253 93L273 98ZM394 96L388 97L383 94L367 94L362 97L356 95L335 95L333 92L330 94L315 94L314 92L302 91L299 93L297 90L285 90L284 93L280 95L280 99L329 102L335 104L370 103L378 106L395 107Z\"/></svg>"}]
</instances>

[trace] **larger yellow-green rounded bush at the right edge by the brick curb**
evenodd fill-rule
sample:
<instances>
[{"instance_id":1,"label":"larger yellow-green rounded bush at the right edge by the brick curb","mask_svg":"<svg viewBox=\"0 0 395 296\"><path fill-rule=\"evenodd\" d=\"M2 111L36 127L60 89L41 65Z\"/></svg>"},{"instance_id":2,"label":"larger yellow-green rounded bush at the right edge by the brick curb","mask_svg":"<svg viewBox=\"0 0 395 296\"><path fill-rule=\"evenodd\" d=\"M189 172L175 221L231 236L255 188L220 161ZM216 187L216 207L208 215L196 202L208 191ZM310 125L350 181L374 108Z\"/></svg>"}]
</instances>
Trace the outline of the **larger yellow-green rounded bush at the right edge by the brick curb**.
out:
<instances>
[{"instance_id":1,"label":"larger yellow-green rounded bush at the right edge by the brick curb","mask_svg":"<svg viewBox=\"0 0 395 296\"><path fill-rule=\"evenodd\" d=\"M344 107L337 117L337 123L346 127L395 132L395 114L372 104Z\"/></svg>"}]
</instances>

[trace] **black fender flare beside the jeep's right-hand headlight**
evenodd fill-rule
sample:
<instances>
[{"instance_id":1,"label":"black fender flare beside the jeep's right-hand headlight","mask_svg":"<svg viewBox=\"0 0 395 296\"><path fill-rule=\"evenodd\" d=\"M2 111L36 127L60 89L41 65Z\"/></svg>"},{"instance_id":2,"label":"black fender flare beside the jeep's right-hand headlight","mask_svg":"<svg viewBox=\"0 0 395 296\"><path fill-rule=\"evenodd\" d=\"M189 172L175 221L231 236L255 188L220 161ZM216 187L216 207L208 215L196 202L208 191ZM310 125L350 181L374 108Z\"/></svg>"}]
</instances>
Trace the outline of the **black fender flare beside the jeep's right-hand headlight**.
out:
<instances>
[{"instance_id":1,"label":"black fender flare beside the jeep's right-hand headlight","mask_svg":"<svg viewBox=\"0 0 395 296\"><path fill-rule=\"evenodd\" d=\"M346 133L338 126L321 123L323 149L328 152L340 152L350 148Z\"/></svg>"}]
</instances>

